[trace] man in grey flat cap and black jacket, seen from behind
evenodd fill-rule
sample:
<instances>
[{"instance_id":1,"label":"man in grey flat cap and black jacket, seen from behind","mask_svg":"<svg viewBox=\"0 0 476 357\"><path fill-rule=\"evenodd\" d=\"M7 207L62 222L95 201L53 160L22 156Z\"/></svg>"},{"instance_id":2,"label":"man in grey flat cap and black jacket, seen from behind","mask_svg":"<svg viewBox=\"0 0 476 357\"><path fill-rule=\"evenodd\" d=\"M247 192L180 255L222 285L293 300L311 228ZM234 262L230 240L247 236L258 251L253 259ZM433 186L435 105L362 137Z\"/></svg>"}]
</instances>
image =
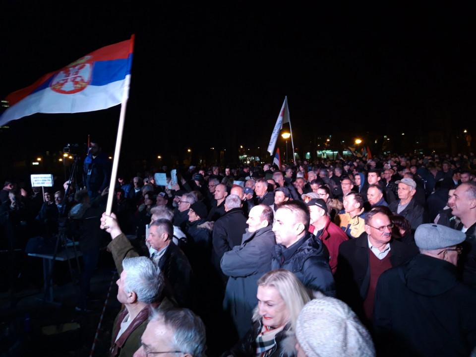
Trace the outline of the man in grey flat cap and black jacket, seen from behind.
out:
<instances>
[{"instance_id":1,"label":"man in grey flat cap and black jacket, seen from behind","mask_svg":"<svg viewBox=\"0 0 476 357\"><path fill-rule=\"evenodd\" d=\"M466 236L423 224L420 250L383 273L375 294L374 326L381 356L470 356L476 346L476 291L458 281L456 264Z\"/></svg>"}]
</instances>

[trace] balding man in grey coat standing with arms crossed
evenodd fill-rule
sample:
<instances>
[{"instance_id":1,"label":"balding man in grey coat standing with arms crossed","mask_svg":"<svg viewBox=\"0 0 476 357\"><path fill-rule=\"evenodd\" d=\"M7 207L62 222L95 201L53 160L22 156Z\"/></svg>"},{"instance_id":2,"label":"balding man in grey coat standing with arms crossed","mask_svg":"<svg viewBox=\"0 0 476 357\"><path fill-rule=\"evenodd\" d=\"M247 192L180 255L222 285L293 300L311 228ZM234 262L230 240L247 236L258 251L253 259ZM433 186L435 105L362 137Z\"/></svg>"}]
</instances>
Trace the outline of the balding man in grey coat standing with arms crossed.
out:
<instances>
[{"instance_id":1,"label":"balding man in grey coat standing with arms crossed","mask_svg":"<svg viewBox=\"0 0 476 357\"><path fill-rule=\"evenodd\" d=\"M242 338L251 328L257 281L271 270L273 247L276 245L273 210L266 205L251 208L246 221L248 228L241 244L223 254L221 268L229 276L223 305L230 312L238 335Z\"/></svg>"}]
</instances>

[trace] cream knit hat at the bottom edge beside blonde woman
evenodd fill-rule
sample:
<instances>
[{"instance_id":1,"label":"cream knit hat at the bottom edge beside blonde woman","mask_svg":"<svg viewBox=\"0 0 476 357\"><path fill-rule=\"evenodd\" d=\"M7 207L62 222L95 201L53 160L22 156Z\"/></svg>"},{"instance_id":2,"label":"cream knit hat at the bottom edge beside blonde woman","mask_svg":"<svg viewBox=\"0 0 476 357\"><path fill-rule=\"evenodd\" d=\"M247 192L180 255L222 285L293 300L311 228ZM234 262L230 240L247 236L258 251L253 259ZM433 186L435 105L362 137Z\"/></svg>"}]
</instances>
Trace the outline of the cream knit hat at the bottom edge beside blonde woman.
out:
<instances>
[{"instance_id":1,"label":"cream knit hat at the bottom edge beside blonde woman","mask_svg":"<svg viewBox=\"0 0 476 357\"><path fill-rule=\"evenodd\" d=\"M307 357L375 356L370 334L354 311L333 297L318 297L303 307L296 337Z\"/></svg>"}]
</instances>

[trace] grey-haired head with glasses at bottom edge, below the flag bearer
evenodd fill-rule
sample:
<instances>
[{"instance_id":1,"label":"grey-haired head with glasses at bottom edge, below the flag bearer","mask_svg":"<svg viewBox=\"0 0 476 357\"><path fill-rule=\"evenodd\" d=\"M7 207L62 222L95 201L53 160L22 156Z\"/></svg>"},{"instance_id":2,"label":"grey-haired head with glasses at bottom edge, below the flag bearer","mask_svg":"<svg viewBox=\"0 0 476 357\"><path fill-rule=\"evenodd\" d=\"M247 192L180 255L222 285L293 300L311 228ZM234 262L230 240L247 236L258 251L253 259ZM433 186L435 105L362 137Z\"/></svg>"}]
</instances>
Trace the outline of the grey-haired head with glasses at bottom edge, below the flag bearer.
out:
<instances>
[{"instance_id":1,"label":"grey-haired head with glasses at bottom edge, below the flag bearer","mask_svg":"<svg viewBox=\"0 0 476 357\"><path fill-rule=\"evenodd\" d=\"M186 308L152 310L134 357L156 354L202 357L205 349L205 325L192 311Z\"/></svg>"}]
</instances>

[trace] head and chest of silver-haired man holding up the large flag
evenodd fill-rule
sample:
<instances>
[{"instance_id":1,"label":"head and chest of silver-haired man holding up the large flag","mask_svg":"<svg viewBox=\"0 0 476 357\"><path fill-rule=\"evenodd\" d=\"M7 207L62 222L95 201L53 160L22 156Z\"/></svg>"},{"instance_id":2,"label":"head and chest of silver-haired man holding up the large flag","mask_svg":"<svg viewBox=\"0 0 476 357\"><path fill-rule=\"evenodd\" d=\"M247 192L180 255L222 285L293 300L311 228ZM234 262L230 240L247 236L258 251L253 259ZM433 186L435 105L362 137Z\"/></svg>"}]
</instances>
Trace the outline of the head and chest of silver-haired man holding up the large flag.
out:
<instances>
[{"instance_id":1,"label":"head and chest of silver-haired man holding up the large flag","mask_svg":"<svg viewBox=\"0 0 476 357\"><path fill-rule=\"evenodd\" d=\"M126 258L122 261L118 285L118 301L124 308L113 324L111 357L130 356L140 342L149 317L151 303L161 308L172 307L162 298L164 277L147 257Z\"/></svg>"}]
</instances>

